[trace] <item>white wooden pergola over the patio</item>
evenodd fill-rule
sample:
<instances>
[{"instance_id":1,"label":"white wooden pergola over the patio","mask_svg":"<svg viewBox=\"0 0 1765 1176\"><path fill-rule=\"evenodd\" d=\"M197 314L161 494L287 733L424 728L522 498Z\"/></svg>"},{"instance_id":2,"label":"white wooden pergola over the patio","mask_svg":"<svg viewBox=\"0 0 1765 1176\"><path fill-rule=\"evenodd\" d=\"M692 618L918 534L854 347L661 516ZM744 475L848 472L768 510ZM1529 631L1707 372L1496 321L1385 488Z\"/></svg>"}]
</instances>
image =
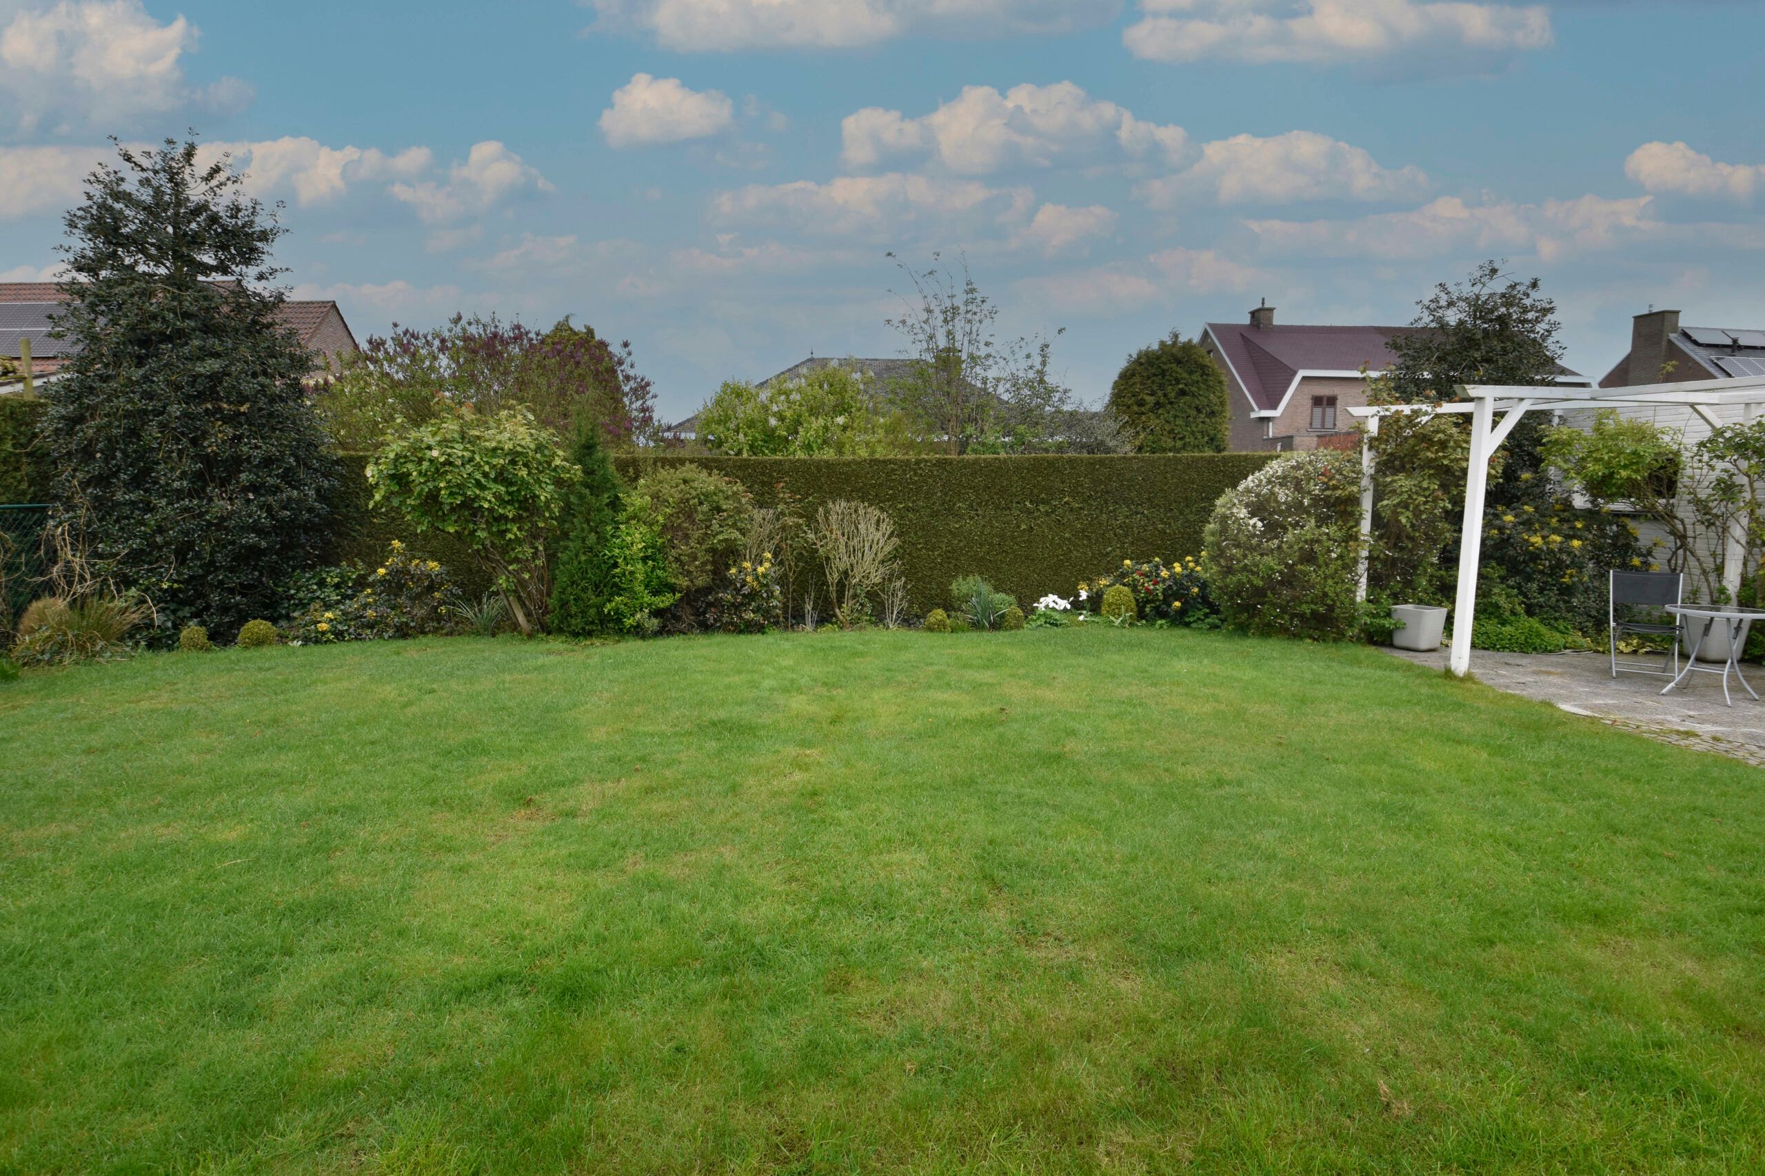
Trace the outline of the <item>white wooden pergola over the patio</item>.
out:
<instances>
[{"instance_id":1,"label":"white wooden pergola over the patio","mask_svg":"<svg viewBox=\"0 0 1765 1176\"><path fill-rule=\"evenodd\" d=\"M1638 384L1634 388L1536 388L1472 384L1460 390L1463 400L1453 404L1394 404L1348 413L1366 421L1361 446L1361 599L1366 599L1366 541L1373 534L1373 448L1378 421L1394 413L1468 413L1470 460L1465 469L1465 525L1458 545L1458 598L1453 608L1453 674L1470 672L1470 626L1477 608L1477 564L1483 559L1483 504L1490 483L1490 458L1507 441L1520 418L1534 411L1603 407L1680 407L1696 413L1710 428L1726 421L1717 409L1742 409L1742 420L1754 420L1765 407L1765 376L1742 379L1698 379L1677 384ZM1723 585L1730 599L1740 589L1746 559L1746 534L1733 524L1723 562Z\"/></svg>"}]
</instances>

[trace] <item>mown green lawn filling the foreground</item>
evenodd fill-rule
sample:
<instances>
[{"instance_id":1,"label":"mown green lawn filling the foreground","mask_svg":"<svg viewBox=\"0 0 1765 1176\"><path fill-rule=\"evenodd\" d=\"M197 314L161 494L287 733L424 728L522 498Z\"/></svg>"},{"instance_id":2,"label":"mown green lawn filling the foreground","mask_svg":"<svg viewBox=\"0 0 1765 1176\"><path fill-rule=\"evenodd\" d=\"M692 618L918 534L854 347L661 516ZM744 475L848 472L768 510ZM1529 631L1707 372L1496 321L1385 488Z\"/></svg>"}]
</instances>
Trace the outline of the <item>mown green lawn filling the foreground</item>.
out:
<instances>
[{"instance_id":1,"label":"mown green lawn filling the foreground","mask_svg":"<svg viewBox=\"0 0 1765 1176\"><path fill-rule=\"evenodd\" d=\"M0 686L0 1171L1761 1171L1765 776L1377 651Z\"/></svg>"}]
</instances>

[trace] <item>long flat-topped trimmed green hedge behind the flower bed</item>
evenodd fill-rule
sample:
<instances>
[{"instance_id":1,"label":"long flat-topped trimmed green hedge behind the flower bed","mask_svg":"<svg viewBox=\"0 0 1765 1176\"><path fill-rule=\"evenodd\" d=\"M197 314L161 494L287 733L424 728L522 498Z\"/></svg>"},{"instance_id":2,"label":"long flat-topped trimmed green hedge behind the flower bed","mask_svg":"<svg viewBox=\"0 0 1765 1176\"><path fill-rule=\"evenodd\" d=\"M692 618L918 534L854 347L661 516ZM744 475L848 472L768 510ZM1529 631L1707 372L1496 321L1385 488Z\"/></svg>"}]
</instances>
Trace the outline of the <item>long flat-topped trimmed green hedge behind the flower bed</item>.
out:
<instances>
[{"instance_id":1,"label":"long flat-topped trimmed green hedge behind the flower bed","mask_svg":"<svg viewBox=\"0 0 1765 1176\"><path fill-rule=\"evenodd\" d=\"M987 577L1029 607L1070 596L1124 559L1200 552L1214 501L1271 453L1142 457L621 457L620 476L694 462L743 483L761 506L780 494L805 515L822 502L881 506L900 532L913 610L948 607L950 582Z\"/></svg>"}]
</instances>

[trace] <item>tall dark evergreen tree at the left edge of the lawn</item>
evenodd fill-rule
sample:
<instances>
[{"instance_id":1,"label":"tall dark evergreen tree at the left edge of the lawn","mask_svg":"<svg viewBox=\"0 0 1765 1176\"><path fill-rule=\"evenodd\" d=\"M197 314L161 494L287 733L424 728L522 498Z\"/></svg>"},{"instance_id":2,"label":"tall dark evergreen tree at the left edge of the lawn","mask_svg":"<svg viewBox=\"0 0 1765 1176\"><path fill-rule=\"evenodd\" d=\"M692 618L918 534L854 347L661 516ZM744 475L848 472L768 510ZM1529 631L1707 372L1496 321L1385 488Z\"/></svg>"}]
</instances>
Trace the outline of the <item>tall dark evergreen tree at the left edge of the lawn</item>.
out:
<instances>
[{"instance_id":1,"label":"tall dark evergreen tree at the left edge of the lawn","mask_svg":"<svg viewBox=\"0 0 1765 1176\"><path fill-rule=\"evenodd\" d=\"M224 633L323 552L337 458L302 388L314 358L277 323L275 213L194 141L116 155L64 219L55 494L166 631Z\"/></svg>"}]
</instances>

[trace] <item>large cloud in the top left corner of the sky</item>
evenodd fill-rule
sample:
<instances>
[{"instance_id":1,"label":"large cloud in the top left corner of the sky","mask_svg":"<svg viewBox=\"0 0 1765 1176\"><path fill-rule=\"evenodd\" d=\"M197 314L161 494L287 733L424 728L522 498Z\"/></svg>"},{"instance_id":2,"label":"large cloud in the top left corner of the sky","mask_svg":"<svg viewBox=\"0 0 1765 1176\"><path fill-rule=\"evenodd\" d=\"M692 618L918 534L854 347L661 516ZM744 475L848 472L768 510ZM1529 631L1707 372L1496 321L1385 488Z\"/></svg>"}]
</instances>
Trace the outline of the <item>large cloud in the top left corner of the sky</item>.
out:
<instances>
[{"instance_id":1,"label":"large cloud in the top left corner of the sky","mask_svg":"<svg viewBox=\"0 0 1765 1176\"><path fill-rule=\"evenodd\" d=\"M184 78L196 26L155 21L141 0L0 4L0 97L21 134L109 130L184 106L235 109L251 88L226 78L207 88Z\"/></svg>"}]
</instances>

